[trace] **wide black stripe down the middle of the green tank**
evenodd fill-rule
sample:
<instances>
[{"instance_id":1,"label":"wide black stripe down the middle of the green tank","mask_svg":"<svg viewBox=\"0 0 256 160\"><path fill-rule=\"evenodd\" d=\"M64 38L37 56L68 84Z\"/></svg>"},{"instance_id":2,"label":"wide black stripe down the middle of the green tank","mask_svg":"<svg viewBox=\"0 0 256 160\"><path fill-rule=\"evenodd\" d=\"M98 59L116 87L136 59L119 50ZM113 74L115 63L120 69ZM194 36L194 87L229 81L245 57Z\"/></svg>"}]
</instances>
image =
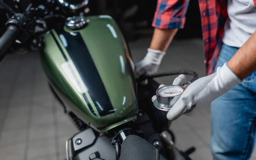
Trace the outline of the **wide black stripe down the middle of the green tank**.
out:
<instances>
[{"instance_id":1,"label":"wide black stripe down the middle of the green tank","mask_svg":"<svg viewBox=\"0 0 256 160\"><path fill-rule=\"evenodd\" d=\"M115 110L100 74L80 33L68 33L64 31L63 26L55 29L55 31L60 36L62 44L68 51L85 86L88 88L88 92L100 116L114 113Z\"/></svg>"}]
</instances>

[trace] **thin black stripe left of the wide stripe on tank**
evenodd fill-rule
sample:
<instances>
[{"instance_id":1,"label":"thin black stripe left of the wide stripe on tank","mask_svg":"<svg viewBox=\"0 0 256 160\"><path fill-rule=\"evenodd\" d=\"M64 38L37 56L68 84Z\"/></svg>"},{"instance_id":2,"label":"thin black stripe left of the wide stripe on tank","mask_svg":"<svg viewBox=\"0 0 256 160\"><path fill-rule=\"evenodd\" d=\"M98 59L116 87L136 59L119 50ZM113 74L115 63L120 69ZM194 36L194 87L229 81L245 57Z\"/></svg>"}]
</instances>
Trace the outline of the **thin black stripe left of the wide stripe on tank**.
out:
<instances>
[{"instance_id":1,"label":"thin black stripe left of the wide stripe on tank","mask_svg":"<svg viewBox=\"0 0 256 160\"><path fill-rule=\"evenodd\" d=\"M51 31L51 35L52 35L54 41L56 42L57 46L59 47L59 50L60 50L60 52L61 52L63 58L64 58L65 61L67 62L67 61L68 61L68 58L67 58L67 56L65 55L65 53L63 52L63 50L61 49L60 44L58 43L57 39L56 39L55 36L53 35L52 31ZM70 72L72 73L73 77L76 79L76 82L78 82L77 77L76 77L76 75L75 75L75 72L74 72L73 68L72 68L71 66L69 66L69 65L68 65L68 68L70 69ZM88 98L86 97L85 93L83 93L83 97L84 97L85 102L87 103L87 106L89 107L90 111L92 112L92 114L94 114L94 115L96 116L94 110L92 109L92 105L91 105L90 101L88 100Z\"/></svg>"}]
</instances>

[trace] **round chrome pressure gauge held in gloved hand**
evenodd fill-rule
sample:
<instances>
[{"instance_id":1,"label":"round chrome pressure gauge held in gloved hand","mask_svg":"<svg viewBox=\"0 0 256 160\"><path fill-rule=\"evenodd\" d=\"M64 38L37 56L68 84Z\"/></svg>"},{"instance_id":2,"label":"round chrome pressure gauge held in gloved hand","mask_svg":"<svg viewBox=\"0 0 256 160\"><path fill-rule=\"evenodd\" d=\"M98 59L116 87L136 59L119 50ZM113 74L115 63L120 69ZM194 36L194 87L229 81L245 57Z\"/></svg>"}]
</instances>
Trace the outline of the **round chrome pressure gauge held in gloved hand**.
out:
<instances>
[{"instance_id":1,"label":"round chrome pressure gauge held in gloved hand","mask_svg":"<svg viewBox=\"0 0 256 160\"><path fill-rule=\"evenodd\" d=\"M154 106L157 109L168 112L180 98L184 88L179 85L166 85L156 90Z\"/></svg>"}]
</instances>

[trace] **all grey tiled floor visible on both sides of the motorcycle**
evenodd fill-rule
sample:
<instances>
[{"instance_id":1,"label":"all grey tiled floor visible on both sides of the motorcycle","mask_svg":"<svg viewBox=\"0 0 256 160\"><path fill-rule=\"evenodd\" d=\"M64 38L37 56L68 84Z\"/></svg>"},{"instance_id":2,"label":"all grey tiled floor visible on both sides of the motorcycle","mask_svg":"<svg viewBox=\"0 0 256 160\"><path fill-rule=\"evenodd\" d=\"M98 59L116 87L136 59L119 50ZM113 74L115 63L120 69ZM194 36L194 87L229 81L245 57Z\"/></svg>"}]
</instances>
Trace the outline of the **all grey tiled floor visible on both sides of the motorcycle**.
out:
<instances>
[{"instance_id":1,"label":"all grey tiled floor visible on both sides of the motorcycle","mask_svg":"<svg viewBox=\"0 0 256 160\"><path fill-rule=\"evenodd\" d=\"M149 43L150 38L130 43L134 62L144 57ZM201 40L173 41L159 72L177 69L195 70L204 76ZM174 78L157 81L171 84ZM208 104L196 116L181 116L171 128L180 149L195 146L194 160L210 160L210 125ZM0 159L63 160L65 142L76 132L50 92L38 55L8 54L0 63ZM256 159L255 152L253 157Z\"/></svg>"}]
</instances>

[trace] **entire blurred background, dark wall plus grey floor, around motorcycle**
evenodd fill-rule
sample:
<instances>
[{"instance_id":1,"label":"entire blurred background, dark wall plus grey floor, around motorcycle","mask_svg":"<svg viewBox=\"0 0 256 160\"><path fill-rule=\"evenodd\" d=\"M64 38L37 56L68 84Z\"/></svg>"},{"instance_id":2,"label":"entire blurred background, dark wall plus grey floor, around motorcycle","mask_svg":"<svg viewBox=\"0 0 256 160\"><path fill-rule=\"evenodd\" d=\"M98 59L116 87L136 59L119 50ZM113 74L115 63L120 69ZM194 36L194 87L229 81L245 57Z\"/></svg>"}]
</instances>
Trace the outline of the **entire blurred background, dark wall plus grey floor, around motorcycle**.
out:
<instances>
[{"instance_id":1,"label":"entire blurred background, dark wall plus grey floor, around motorcycle","mask_svg":"<svg viewBox=\"0 0 256 160\"><path fill-rule=\"evenodd\" d=\"M4 0L23 12L29 0ZM32 1L40 4L40 0ZM128 41L134 63L144 58L153 28L156 0L93 0L90 15L111 15ZM178 31L167 50L159 72L189 69L205 76L200 12L197 1L188 7L185 28ZM1 13L0 34L9 15ZM15 47L16 45L16 47ZM0 159L64 160L66 140L78 132L55 100L41 67L37 49L31 44L15 44L0 63ZM22 55L21 55L22 54ZM175 77L156 78L160 84L172 84ZM170 126L176 145L196 151L194 160L212 159L210 151L211 109L207 105L193 117L181 116ZM254 152L252 159L256 159Z\"/></svg>"}]
</instances>

